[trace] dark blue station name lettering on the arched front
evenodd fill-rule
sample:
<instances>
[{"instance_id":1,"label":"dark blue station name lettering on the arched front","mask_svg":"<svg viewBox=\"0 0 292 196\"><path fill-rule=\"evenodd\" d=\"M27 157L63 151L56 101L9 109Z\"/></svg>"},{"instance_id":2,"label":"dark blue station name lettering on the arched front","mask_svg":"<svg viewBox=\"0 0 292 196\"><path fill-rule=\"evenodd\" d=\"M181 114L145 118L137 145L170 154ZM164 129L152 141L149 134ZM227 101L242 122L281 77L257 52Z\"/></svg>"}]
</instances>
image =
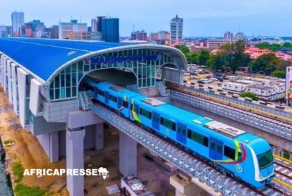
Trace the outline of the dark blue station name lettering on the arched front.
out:
<instances>
[{"instance_id":1,"label":"dark blue station name lettering on the arched front","mask_svg":"<svg viewBox=\"0 0 292 196\"><path fill-rule=\"evenodd\" d=\"M162 55L128 55L128 56L94 56L91 58L92 64L101 63L129 63L133 61L160 61Z\"/></svg>"}]
</instances>

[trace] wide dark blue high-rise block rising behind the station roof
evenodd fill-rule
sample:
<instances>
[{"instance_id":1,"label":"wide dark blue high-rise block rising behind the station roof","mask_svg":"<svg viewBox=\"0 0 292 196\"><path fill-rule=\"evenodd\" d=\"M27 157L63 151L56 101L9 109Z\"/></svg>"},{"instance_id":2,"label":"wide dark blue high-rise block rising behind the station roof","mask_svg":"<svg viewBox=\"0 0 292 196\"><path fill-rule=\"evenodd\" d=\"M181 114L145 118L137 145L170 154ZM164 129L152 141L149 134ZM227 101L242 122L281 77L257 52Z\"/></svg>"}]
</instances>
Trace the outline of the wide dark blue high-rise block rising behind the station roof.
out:
<instances>
[{"instance_id":1,"label":"wide dark blue high-rise block rising behind the station roof","mask_svg":"<svg viewBox=\"0 0 292 196\"><path fill-rule=\"evenodd\" d=\"M119 19L103 19L101 22L101 34L103 34L103 41L119 42Z\"/></svg>"}]
</instances>

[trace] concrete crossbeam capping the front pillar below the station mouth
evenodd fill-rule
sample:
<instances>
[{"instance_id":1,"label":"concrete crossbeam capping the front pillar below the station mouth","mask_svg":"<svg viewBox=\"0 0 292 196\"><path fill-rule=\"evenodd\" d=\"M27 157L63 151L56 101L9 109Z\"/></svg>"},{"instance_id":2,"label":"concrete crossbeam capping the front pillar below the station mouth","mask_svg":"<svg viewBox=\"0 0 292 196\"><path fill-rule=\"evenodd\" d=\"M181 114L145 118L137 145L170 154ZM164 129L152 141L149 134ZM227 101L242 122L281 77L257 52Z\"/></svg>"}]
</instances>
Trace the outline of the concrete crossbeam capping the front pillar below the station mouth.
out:
<instances>
[{"instance_id":1,"label":"concrete crossbeam capping the front pillar below the station mouth","mask_svg":"<svg viewBox=\"0 0 292 196\"><path fill-rule=\"evenodd\" d=\"M103 118L97 116L93 111L70 111L68 113L67 127L69 129L79 129L80 127L90 126L104 122Z\"/></svg>"}]
</instances>

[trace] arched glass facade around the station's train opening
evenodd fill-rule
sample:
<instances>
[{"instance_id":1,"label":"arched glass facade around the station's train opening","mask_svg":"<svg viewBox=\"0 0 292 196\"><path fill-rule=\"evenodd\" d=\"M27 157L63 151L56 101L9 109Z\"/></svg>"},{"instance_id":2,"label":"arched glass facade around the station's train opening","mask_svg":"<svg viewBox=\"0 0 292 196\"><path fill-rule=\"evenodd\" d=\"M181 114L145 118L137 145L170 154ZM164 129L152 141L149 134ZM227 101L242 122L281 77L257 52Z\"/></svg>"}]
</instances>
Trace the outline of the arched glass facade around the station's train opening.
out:
<instances>
[{"instance_id":1,"label":"arched glass facade around the station's train opening","mask_svg":"<svg viewBox=\"0 0 292 196\"><path fill-rule=\"evenodd\" d=\"M49 89L50 100L76 98L83 76L98 69L129 69L137 77L138 88L154 87L156 69L165 63L174 61L157 50L146 49L121 50L85 58L83 61L72 63L54 78Z\"/></svg>"}]
</instances>

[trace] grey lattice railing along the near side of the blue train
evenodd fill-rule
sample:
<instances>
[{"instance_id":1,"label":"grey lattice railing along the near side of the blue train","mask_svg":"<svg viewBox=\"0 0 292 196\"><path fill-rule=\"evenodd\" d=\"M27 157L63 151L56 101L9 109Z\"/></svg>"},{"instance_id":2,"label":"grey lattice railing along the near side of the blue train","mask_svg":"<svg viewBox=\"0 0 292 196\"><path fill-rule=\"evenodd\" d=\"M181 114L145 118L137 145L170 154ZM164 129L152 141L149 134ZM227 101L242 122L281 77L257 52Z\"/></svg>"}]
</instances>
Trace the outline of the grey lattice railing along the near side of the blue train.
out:
<instances>
[{"instance_id":1,"label":"grey lattice railing along the near side of the blue train","mask_svg":"<svg viewBox=\"0 0 292 196\"><path fill-rule=\"evenodd\" d=\"M257 193L250 188L247 188L236 180L216 171L214 168L197 160L195 157L177 149L175 146L158 138L158 136L153 133L149 133L149 131L129 122L129 120L119 116L114 113L114 111L110 111L109 109L96 104L92 106L92 111L98 116L101 116L105 121L110 122L114 127L123 131L130 138L136 140L136 142L139 142L147 149L156 152L160 157L163 157L165 160L176 165L181 171L187 173L191 177L199 179L200 183L207 184L207 186L216 192L222 193L222 195L257 195ZM192 181L196 182L196 180ZM198 184L198 186L201 186L201 184ZM265 191L269 190L269 195L281 195L267 186L262 189Z\"/></svg>"}]
</instances>

